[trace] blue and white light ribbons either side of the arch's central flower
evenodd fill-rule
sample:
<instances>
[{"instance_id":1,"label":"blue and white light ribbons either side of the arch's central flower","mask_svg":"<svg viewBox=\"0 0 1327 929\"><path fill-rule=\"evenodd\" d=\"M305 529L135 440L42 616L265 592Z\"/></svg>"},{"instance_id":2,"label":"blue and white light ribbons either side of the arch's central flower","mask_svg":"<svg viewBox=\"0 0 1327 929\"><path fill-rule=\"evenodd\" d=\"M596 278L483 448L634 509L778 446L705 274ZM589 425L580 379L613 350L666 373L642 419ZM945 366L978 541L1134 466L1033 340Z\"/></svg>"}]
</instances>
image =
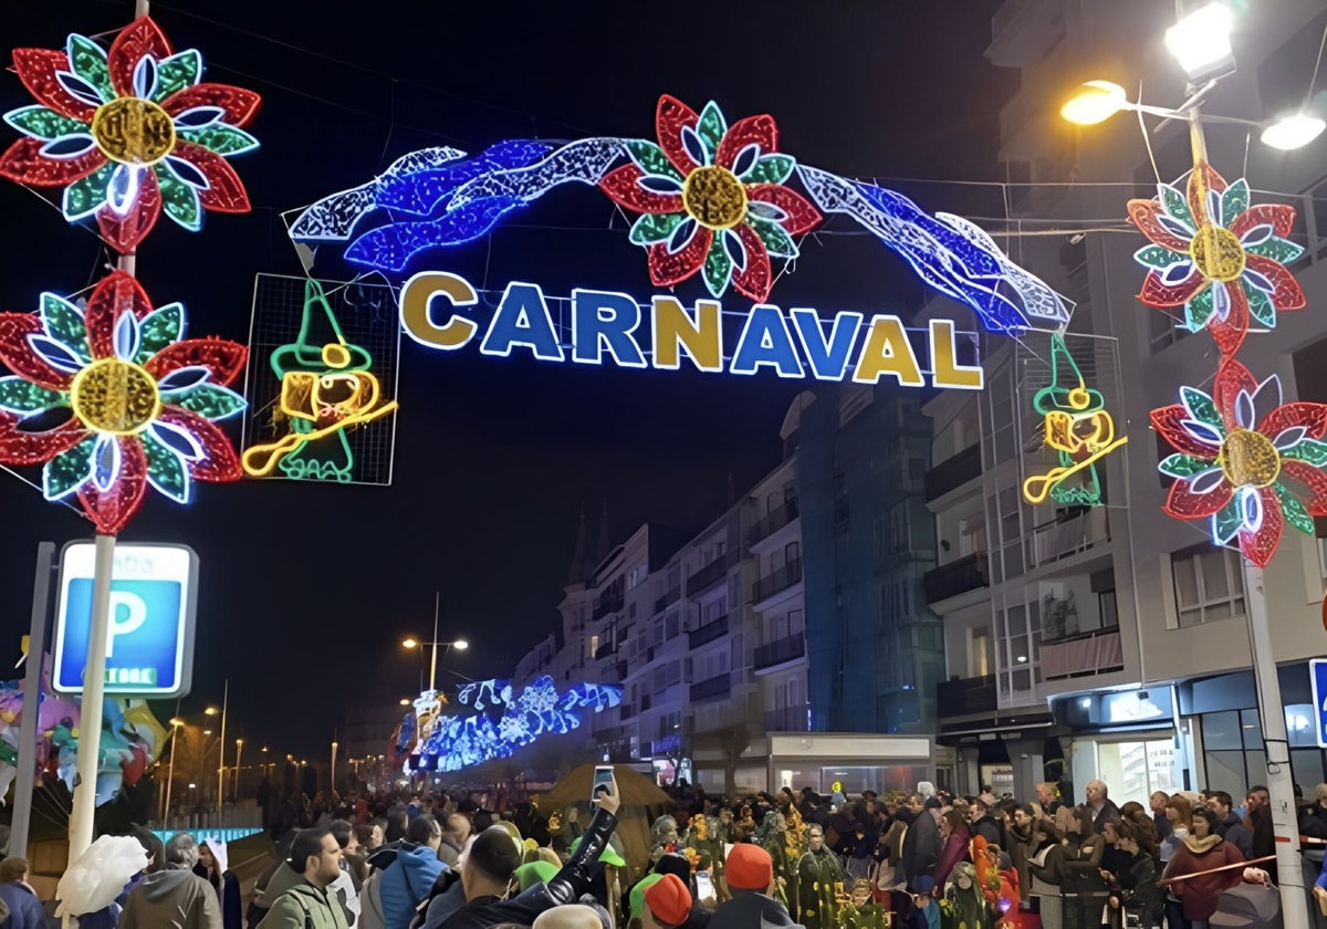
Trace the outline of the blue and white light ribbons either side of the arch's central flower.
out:
<instances>
[{"instance_id":1,"label":"blue and white light ribbons either side of the arch's central flower","mask_svg":"<svg viewBox=\"0 0 1327 929\"><path fill-rule=\"evenodd\" d=\"M425 149L365 184L313 203L292 223L291 238L349 242L346 261L399 275L417 255L474 242L556 187L598 184L629 158L629 142L602 137L553 146L508 139L475 158L450 147ZM1060 329L1068 322L1064 300L1011 261L975 223L930 215L896 191L807 165L799 163L796 173L824 214L853 219L926 284L969 305L989 330ZM389 220L356 235L361 220L378 210L389 211ZM397 212L410 218L398 219Z\"/></svg>"}]
</instances>

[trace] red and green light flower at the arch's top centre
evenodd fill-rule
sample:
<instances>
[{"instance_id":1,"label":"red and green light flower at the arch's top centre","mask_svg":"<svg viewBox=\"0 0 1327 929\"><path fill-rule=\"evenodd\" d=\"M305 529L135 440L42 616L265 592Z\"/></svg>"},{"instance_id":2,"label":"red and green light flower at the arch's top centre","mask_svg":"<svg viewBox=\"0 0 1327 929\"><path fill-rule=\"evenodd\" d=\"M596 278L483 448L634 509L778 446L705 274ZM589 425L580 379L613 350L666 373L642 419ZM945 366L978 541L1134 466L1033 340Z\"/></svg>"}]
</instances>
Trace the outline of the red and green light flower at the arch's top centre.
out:
<instances>
[{"instance_id":1,"label":"red and green light flower at the arch's top centre","mask_svg":"<svg viewBox=\"0 0 1327 929\"><path fill-rule=\"evenodd\" d=\"M628 139L630 163L598 183L614 203L642 214L630 239L649 251L650 280L670 287L703 268L714 296L731 283L766 300L774 285L770 257L796 257L792 236L823 220L786 186L796 161L779 153L774 117L730 127L714 101L697 114L665 94L654 126L660 143Z\"/></svg>"}]
</instances>

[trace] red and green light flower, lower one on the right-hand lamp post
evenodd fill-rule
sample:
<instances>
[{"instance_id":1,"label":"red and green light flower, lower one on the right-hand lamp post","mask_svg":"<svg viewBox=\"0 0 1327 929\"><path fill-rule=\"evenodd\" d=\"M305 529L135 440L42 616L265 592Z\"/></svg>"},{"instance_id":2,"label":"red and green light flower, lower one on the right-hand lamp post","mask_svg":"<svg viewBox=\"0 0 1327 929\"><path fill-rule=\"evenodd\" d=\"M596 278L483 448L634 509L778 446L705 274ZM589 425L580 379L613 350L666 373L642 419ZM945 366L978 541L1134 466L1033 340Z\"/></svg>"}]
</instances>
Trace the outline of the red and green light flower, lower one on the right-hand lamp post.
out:
<instances>
[{"instance_id":1,"label":"red and green light flower, lower one on the right-hand lamp post","mask_svg":"<svg viewBox=\"0 0 1327 929\"><path fill-rule=\"evenodd\" d=\"M1177 454L1158 470L1174 478L1165 512L1210 519L1212 540L1238 540L1239 551L1267 567L1290 523L1314 535L1327 516L1327 403L1282 403L1277 376L1258 382L1226 358L1213 395L1180 389L1180 403L1152 411L1152 426Z\"/></svg>"}]
</instances>

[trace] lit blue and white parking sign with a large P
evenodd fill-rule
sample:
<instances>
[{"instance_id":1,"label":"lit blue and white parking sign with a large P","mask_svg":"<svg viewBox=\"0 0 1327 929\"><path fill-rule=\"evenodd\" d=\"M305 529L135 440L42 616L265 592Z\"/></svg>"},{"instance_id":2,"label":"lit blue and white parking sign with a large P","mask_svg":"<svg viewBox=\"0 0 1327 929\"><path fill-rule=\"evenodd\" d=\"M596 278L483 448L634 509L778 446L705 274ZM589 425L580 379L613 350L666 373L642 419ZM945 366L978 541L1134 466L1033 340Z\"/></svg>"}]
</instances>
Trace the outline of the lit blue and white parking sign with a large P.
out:
<instances>
[{"instance_id":1,"label":"lit blue and white parking sign with a large P","mask_svg":"<svg viewBox=\"0 0 1327 929\"><path fill-rule=\"evenodd\" d=\"M57 693L78 694L92 630L94 544L65 545L56 607ZM183 697L194 676L198 555L187 545L117 544L106 695Z\"/></svg>"}]
</instances>

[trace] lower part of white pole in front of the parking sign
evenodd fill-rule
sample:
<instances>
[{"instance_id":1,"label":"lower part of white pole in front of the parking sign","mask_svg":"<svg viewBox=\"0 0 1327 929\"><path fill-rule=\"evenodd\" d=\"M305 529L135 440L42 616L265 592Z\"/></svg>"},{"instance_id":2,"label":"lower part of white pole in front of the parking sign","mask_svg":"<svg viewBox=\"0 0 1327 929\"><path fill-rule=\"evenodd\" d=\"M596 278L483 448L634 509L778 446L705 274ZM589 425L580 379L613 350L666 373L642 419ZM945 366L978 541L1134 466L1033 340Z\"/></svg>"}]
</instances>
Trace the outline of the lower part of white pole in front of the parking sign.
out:
<instances>
[{"instance_id":1,"label":"lower part of white pole in front of the parking sign","mask_svg":"<svg viewBox=\"0 0 1327 929\"><path fill-rule=\"evenodd\" d=\"M106 649L110 633L110 576L115 567L115 536L97 534L92 591L92 630L84 665L82 707L78 714L78 776L69 815L69 864L92 845L97 812L97 762L106 695Z\"/></svg>"}]
</instances>

